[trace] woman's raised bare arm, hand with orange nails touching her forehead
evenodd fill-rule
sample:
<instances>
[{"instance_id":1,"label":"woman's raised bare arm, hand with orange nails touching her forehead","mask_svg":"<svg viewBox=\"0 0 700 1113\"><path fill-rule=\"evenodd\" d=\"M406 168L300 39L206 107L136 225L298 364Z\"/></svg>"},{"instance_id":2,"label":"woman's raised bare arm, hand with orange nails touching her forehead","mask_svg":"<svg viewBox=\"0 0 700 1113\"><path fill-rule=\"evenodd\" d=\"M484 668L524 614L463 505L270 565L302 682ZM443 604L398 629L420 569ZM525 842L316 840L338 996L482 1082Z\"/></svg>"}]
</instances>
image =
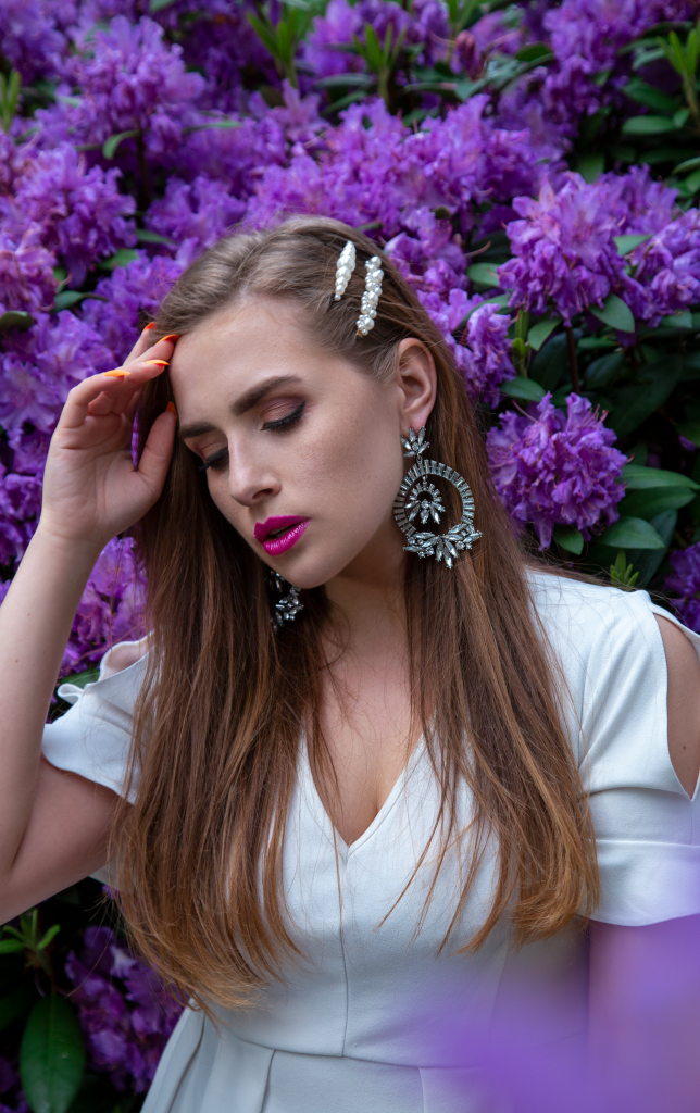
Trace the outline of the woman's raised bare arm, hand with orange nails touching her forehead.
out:
<instances>
[{"instance_id":1,"label":"woman's raised bare arm, hand with orange nails touching her forehead","mask_svg":"<svg viewBox=\"0 0 700 1113\"><path fill-rule=\"evenodd\" d=\"M105 544L156 501L176 421L155 423L139 469L132 415L162 371L140 338L129 374L73 387L51 439L41 519L0 608L0 923L103 864L109 789L40 762L43 725L80 595Z\"/></svg>"}]
</instances>

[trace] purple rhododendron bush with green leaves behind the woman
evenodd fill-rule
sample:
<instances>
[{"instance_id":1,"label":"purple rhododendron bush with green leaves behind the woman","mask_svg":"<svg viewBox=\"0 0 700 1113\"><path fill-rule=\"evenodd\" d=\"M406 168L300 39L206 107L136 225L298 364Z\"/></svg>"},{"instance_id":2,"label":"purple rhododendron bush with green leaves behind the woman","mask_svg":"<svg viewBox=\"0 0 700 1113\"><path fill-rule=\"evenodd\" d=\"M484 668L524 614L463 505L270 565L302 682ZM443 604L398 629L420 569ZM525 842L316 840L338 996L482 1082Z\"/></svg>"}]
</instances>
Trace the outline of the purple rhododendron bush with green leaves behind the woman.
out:
<instances>
[{"instance_id":1,"label":"purple rhododendron bush with green leaves behind the woman","mask_svg":"<svg viewBox=\"0 0 700 1113\"><path fill-rule=\"evenodd\" d=\"M523 543L700 631L699 14L3 0L0 599L71 386L122 363L218 237L312 213L366 232L414 287ZM142 612L116 538L62 676L90 680ZM181 1005L110 917L88 879L4 928L0 1113L140 1107Z\"/></svg>"}]
</instances>

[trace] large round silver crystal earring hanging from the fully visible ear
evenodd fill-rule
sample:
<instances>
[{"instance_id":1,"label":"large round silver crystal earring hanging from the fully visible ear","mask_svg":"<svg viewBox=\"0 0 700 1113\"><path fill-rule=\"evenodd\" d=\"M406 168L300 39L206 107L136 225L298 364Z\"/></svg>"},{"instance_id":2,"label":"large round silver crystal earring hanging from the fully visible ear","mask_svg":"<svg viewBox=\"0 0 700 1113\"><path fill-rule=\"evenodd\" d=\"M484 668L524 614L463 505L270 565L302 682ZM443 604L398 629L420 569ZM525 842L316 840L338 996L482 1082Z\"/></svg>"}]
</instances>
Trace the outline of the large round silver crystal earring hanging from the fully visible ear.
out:
<instances>
[{"instance_id":1,"label":"large round silver crystal earring hanging from the fully visible ear","mask_svg":"<svg viewBox=\"0 0 700 1113\"><path fill-rule=\"evenodd\" d=\"M410 430L408 437L402 436L401 443L404 456L415 459L415 464L405 475L394 500L396 524L408 539L408 544L404 545L404 549L418 556L444 560L447 568L452 568L460 552L471 549L474 541L481 538L481 533L474 529L472 489L452 467L440 464L436 460L422 459L425 450L430 447L430 442L425 440L425 426L417 436L414 430ZM440 519L445 513L440 491L434 483L428 482L428 475L440 475L447 480L456 487L462 499L462 520L446 533L432 533L430 530L418 532L412 524L416 519L421 525L425 525L431 519L440 524Z\"/></svg>"}]
</instances>

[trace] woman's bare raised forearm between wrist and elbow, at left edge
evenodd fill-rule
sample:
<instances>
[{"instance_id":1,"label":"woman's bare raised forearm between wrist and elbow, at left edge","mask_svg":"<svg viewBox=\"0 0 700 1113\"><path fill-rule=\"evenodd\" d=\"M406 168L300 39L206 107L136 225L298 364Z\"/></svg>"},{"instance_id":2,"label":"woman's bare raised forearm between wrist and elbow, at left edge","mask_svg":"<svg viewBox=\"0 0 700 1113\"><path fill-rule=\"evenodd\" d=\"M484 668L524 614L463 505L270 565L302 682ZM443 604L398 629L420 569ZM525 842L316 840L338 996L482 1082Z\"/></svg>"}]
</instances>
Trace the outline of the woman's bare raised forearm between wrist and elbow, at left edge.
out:
<instances>
[{"instance_id":1,"label":"woman's bare raised forearm between wrist and elbow, at left edge","mask_svg":"<svg viewBox=\"0 0 700 1113\"><path fill-rule=\"evenodd\" d=\"M40 524L0 607L0 878L29 823L51 693L98 555Z\"/></svg>"}]
</instances>

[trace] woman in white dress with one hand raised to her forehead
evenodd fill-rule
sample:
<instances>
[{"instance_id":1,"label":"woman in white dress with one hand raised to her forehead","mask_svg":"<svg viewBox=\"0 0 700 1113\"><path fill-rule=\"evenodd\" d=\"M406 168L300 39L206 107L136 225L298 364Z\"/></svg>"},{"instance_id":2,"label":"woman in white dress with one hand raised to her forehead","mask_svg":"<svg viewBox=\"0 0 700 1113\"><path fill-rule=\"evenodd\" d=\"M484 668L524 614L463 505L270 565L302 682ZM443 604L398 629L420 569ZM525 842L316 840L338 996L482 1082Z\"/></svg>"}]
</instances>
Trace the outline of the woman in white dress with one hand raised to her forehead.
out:
<instances>
[{"instance_id":1,"label":"woman in white dress with one hand raised to her forehead","mask_svg":"<svg viewBox=\"0 0 700 1113\"><path fill-rule=\"evenodd\" d=\"M630 986L700 913L700 639L525 560L446 346L374 253L305 218L194 263L71 391L2 607L0 912L111 860L191 1002L148 1113L496 1107L499 1041L576 1068L589 939L603 1075L643 1074L632 1024L653 1051L697 1020L690 993L642 1023ZM137 522L152 632L43 729Z\"/></svg>"}]
</instances>

